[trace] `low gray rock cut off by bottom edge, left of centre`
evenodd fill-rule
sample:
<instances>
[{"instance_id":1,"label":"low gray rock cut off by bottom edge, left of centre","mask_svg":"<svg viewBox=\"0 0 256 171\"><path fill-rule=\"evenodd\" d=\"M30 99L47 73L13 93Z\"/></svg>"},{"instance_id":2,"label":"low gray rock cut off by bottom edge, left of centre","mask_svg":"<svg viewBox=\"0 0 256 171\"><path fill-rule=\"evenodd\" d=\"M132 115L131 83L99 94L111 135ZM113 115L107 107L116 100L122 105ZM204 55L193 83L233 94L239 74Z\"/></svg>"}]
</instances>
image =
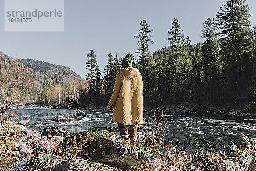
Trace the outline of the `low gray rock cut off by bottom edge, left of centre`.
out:
<instances>
[{"instance_id":1,"label":"low gray rock cut off by bottom edge, left of centre","mask_svg":"<svg viewBox=\"0 0 256 171\"><path fill-rule=\"evenodd\" d=\"M48 171L48 170L44 170ZM108 165L83 159L67 160L51 168L51 171L119 171Z\"/></svg>"}]
</instances>

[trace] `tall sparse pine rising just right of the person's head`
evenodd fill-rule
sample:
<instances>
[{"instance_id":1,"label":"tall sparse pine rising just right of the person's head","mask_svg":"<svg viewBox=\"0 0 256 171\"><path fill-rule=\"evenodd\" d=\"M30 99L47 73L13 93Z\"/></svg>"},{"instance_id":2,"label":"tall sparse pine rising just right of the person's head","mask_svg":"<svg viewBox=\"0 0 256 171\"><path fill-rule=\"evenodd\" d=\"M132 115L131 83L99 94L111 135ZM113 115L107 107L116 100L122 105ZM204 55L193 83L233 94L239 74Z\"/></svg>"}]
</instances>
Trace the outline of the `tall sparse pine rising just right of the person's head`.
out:
<instances>
[{"instance_id":1,"label":"tall sparse pine rising just right of the person's head","mask_svg":"<svg viewBox=\"0 0 256 171\"><path fill-rule=\"evenodd\" d=\"M151 40L152 35L150 34L153 29L149 29L150 25L146 23L146 20L143 20L140 22L140 26L142 28L139 30L139 33L135 36L136 38L139 38L139 41L137 45L139 46L136 53L138 53L139 57L139 70L142 74L142 77L144 78L146 73L146 69L148 68L148 42L154 43L153 40Z\"/></svg>"}]
</instances>

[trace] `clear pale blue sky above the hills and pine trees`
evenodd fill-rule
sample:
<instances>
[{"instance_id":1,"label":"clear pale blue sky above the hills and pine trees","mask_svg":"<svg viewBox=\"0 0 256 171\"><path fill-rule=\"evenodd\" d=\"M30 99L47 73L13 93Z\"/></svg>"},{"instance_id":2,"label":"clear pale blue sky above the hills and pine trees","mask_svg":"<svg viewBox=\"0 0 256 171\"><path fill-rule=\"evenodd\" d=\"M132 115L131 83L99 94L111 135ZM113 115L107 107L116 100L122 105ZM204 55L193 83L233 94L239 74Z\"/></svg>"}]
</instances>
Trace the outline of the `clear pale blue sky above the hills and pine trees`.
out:
<instances>
[{"instance_id":1,"label":"clear pale blue sky above the hills and pine trees","mask_svg":"<svg viewBox=\"0 0 256 171\"><path fill-rule=\"evenodd\" d=\"M86 54L93 49L103 71L108 53L135 56L140 21L153 29L151 52L168 46L167 31L174 17L192 43L200 38L204 21L215 17L222 0L65 0L64 32L4 32L4 0L0 0L0 51L70 67L85 77ZM256 0L247 0L251 24L256 25Z\"/></svg>"}]
</instances>

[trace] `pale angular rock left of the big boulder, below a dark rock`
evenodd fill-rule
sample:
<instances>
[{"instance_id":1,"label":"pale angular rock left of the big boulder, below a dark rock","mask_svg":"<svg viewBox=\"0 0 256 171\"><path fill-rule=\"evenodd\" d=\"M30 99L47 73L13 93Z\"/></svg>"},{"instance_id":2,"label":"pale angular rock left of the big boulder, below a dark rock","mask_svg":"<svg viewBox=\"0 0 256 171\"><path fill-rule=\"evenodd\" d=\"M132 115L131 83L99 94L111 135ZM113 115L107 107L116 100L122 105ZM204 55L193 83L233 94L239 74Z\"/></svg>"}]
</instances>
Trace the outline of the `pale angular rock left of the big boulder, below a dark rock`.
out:
<instances>
[{"instance_id":1,"label":"pale angular rock left of the big boulder, below a dark rock","mask_svg":"<svg viewBox=\"0 0 256 171\"><path fill-rule=\"evenodd\" d=\"M62 141L61 136L48 136L38 141L39 147L46 153L52 152Z\"/></svg>"}]
</instances>

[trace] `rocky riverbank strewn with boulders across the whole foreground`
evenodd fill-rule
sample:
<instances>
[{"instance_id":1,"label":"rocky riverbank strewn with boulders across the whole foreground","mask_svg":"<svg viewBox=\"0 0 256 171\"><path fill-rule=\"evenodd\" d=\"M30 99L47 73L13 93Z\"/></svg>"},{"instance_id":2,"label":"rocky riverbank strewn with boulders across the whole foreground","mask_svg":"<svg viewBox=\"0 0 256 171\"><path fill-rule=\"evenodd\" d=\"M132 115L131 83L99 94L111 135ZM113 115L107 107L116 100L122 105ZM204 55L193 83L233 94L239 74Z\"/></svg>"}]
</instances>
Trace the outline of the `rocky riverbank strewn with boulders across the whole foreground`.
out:
<instances>
[{"instance_id":1,"label":"rocky riverbank strewn with boulders across the whole foreground","mask_svg":"<svg viewBox=\"0 0 256 171\"><path fill-rule=\"evenodd\" d=\"M28 122L7 119L1 123L2 169L207 171L211 168L212 171L256 171L256 143L242 133L187 136L161 154L162 158L158 156L156 162L153 151L132 147L109 128L70 133L63 128L47 126L35 131L26 127Z\"/></svg>"}]
</instances>

